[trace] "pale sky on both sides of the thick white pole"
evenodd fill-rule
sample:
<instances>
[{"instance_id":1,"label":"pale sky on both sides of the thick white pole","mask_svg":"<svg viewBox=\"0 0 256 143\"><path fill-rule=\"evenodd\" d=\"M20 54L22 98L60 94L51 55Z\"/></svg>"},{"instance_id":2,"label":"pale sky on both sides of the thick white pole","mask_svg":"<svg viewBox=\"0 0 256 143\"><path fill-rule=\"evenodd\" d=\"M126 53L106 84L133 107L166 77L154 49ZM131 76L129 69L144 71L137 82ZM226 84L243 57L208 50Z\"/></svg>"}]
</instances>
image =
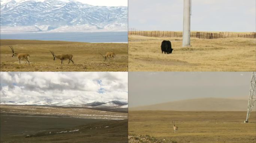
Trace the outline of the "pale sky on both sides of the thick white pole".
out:
<instances>
[{"instance_id":1,"label":"pale sky on both sides of the thick white pole","mask_svg":"<svg viewBox=\"0 0 256 143\"><path fill-rule=\"evenodd\" d=\"M182 31L183 0L129 0L129 28ZM255 0L192 0L191 31L256 31Z\"/></svg>"}]
</instances>

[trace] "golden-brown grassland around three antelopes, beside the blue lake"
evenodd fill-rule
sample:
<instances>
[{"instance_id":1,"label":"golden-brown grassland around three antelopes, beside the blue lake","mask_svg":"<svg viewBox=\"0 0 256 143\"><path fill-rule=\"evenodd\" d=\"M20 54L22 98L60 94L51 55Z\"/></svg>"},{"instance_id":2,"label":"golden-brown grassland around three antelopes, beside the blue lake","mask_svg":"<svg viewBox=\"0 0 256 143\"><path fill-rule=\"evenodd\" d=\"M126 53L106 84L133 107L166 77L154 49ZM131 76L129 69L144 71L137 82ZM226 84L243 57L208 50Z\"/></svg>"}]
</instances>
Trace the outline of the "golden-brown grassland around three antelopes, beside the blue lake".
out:
<instances>
[{"instance_id":1,"label":"golden-brown grassland around three antelopes, beside the blue lake","mask_svg":"<svg viewBox=\"0 0 256 143\"><path fill-rule=\"evenodd\" d=\"M16 53L30 54L30 66L26 60L12 57L9 48L12 45ZM128 71L127 43L85 43L65 41L36 40L0 40L0 71ZM68 60L53 60L50 50L56 55L73 54L74 64ZM112 51L116 54L116 63L103 60L99 54Z\"/></svg>"}]
</instances>

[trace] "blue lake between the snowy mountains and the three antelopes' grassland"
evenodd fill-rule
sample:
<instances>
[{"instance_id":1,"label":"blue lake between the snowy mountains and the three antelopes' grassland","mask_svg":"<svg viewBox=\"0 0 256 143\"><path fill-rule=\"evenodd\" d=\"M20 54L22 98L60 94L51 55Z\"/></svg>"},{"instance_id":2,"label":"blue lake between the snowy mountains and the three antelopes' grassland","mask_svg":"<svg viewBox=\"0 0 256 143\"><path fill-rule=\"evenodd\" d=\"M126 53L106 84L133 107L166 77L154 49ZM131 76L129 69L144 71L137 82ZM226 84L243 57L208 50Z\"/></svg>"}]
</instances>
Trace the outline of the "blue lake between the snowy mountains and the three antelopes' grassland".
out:
<instances>
[{"instance_id":1,"label":"blue lake between the snowy mountains and the three antelopes' grassland","mask_svg":"<svg viewBox=\"0 0 256 143\"><path fill-rule=\"evenodd\" d=\"M37 32L0 34L0 39L51 40L73 42L128 42L128 32Z\"/></svg>"}]
</instances>

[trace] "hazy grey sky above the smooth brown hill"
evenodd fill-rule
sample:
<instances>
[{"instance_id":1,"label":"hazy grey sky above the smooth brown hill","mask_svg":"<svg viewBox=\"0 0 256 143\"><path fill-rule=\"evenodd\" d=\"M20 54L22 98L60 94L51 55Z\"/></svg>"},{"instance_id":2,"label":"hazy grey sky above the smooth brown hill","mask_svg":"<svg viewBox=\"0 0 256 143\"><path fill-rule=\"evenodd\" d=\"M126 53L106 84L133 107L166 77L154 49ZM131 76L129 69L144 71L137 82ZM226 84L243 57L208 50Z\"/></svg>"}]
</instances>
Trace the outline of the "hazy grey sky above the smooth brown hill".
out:
<instances>
[{"instance_id":1,"label":"hazy grey sky above the smooth brown hill","mask_svg":"<svg viewBox=\"0 0 256 143\"><path fill-rule=\"evenodd\" d=\"M249 98L251 72L129 72L129 107L194 98Z\"/></svg>"}]
</instances>

